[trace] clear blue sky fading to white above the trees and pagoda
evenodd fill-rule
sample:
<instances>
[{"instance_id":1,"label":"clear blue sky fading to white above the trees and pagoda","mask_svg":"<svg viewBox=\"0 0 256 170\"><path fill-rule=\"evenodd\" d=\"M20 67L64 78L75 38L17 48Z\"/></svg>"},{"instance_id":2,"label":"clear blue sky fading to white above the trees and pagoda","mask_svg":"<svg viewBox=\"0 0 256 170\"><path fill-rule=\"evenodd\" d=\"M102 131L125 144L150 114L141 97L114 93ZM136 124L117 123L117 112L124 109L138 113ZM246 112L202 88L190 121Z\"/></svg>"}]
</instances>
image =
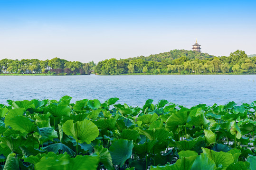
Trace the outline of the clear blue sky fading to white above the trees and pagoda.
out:
<instances>
[{"instance_id":1,"label":"clear blue sky fading to white above the trees and pagoda","mask_svg":"<svg viewBox=\"0 0 256 170\"><path fill-rule=\"evenodd\" d=\"M256 54L256 0L0 0L0 59Z\"/></svg>"}]
</instances>

